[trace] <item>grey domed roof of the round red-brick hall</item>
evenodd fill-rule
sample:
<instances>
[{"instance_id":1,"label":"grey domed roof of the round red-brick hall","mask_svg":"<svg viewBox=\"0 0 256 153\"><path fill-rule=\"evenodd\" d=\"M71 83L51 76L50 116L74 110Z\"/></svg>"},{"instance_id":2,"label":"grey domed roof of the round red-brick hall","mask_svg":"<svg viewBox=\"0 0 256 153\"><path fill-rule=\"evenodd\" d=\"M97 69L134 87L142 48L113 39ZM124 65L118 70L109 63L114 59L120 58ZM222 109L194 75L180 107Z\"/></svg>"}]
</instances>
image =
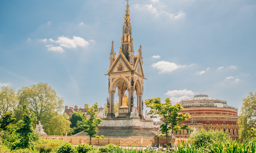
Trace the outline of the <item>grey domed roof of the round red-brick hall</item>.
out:
<instances>
[{"instance_id":1,"label":"grey domed roof of the round red-brick hall","mask_svg":"<svg viewBox=\"0 0 256 153\"><path fill-rule=\"evenodd\" d=\"M179 102L183 107L228 107L227 101L219 100L217 98L208 97L208 95L195 95L192 98L181 100ZM237 109L237 108L234 108Z\"/></svg>"}]
</instances>

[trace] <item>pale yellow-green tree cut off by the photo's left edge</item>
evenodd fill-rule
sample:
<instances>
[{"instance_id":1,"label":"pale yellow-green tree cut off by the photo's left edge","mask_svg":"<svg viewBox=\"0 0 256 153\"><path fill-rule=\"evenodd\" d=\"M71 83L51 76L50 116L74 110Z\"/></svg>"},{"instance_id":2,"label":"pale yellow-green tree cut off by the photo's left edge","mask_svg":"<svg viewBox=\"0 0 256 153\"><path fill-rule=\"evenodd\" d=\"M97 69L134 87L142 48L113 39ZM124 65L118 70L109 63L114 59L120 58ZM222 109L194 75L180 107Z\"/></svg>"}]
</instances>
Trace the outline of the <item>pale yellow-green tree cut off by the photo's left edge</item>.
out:
<instances>
[{"instance_id":1,"label":"pale yellow-green tree cut off by the photo's left edge","mask_svg":"<svg viewBox=\"0 0 256 153\"><path fill-rule=\"evenodd\" d=\"M14 111L17 105L17 91L15 88L2 86L0 90L0 117L6 112Z\"/></svg>"}]
</instances>

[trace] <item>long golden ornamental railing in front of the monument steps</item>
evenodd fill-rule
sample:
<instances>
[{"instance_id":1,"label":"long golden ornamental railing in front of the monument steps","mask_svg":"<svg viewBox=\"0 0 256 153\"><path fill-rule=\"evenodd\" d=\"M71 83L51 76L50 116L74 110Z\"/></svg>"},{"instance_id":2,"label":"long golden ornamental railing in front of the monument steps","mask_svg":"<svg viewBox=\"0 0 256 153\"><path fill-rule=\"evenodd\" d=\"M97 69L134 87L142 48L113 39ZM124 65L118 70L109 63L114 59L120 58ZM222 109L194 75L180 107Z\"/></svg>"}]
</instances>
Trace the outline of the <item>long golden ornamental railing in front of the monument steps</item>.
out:
<instances>
[{"instance_id":1,"label":"long golden ornamental railing in front of the monument steps","mask_svg":"<svg viewBox=\"0 0 256 153\"><path fill-rule=\"evenodd\" d=\"M134 147L145 147L148 144L153 146L154 137L104 137L104 139L91 138L91 145L118 145L118 146L134 146ZM90 138L86 136L41 136L41 140L62 140L70 142L71 144L89 144Z\"/></svg>"}]
</instances>

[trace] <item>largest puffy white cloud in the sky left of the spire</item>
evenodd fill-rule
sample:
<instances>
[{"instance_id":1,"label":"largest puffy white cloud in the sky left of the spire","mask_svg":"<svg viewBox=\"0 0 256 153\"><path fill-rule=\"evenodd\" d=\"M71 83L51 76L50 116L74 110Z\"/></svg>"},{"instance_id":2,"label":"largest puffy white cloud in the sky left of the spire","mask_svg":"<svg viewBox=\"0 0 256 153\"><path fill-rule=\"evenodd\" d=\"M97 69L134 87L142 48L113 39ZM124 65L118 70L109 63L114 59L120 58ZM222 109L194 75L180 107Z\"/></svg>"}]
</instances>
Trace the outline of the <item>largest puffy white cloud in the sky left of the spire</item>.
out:
<instances>
[{"instance_id":1,"label":"largest puffy white cloud in the sky left of the spire","mask_svg":"<svg viewBox=\"0 0 256 153\"><path fill-rule=\"evenodd\" d=\"M51 42L58 43L62 47L67 48L76 48L77 46L86 48L89 43L84 38L73 36L73 39L70 39L68 37L60 36L58 37L58 40L48 39Z\"/></svg>"}]
</instances>

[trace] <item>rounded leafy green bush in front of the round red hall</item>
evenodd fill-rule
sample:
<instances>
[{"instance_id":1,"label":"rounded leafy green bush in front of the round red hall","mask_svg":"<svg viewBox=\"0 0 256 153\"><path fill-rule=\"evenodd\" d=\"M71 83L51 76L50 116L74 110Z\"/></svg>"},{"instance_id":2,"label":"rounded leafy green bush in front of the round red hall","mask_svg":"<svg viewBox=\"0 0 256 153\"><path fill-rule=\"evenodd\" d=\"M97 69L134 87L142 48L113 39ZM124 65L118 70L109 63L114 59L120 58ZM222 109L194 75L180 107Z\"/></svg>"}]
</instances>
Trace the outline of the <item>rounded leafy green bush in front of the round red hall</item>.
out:
<instances>
[{"instance_id":1,"label":"rounded leafy green bush in front of the round red hall","mask_svg":"<svg viewBox=\"0 0 256 153\"><path fill-rule=\"evenodd\" d=\"M189 143L195 147L202 147L208 143L213 143L213 141L221 141L222 143L227 143L232 141L232 139L223 131L218 130L199 130L189 137Z\"/></svg>"}]
</instances>

